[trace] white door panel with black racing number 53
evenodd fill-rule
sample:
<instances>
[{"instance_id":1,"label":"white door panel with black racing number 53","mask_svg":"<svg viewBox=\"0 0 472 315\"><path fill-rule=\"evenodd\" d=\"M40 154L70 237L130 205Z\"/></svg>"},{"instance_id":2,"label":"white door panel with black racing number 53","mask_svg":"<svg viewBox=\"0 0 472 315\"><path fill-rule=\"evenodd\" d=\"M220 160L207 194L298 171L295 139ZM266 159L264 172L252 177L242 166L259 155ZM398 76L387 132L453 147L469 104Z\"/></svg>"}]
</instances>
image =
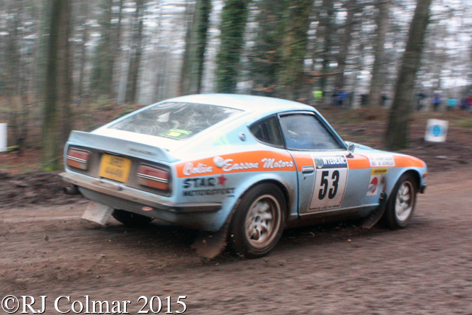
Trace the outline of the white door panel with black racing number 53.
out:
<instances>
[{"instance_id":1,"label":"white door panel with black racing number 53","mask_svg":"<svg viewBox=\"0 0 472 315\"><path fill-rule=\"evenodd\" d=\"M310 210L341 205L347 181L347 168L318 168Z\"/></svg>"}]
</instances>

